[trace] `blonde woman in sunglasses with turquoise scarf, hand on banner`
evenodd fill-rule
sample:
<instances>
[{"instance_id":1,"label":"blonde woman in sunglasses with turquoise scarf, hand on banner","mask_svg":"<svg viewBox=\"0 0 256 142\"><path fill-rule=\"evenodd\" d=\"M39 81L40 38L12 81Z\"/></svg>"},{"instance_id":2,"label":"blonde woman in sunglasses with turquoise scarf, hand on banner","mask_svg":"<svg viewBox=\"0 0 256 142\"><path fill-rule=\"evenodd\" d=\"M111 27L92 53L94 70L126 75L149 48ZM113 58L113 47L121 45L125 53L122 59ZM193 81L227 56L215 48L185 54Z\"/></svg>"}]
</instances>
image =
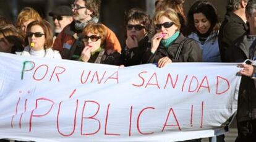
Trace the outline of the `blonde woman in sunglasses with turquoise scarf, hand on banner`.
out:
<instances>
[{"instance_id":1,"label":"blonde woman in sunglasses with turquoise scarf, hand on banner","mask_svg":"<svg viewBox=\"0 0 256 142\"><path fill-rule=\"evenodd\" d=\"M202 61L198 44L180 33L181 23L173 9L157 11L153 22L156 34L151 38L151 47L145 52L143 62L157 62L158 67L164 67L171 62Z\"/></svg>"}]
</instances>

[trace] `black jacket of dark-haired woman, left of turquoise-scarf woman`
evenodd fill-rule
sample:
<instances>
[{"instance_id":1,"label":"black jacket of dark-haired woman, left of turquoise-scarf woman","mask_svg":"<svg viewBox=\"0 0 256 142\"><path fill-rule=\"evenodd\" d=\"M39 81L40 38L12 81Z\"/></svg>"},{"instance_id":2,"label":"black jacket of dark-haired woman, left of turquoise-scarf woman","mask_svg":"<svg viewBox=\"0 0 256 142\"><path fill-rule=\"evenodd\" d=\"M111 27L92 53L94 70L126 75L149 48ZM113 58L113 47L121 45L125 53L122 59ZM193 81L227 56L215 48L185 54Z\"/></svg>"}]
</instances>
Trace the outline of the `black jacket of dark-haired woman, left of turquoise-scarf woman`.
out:
<instances>
[{"instance_id":1,"label":"black jacket of dark-haired woman, left of turquoise-scarf woman","mask_svg":"<svg viewBox=\"0 0 256 142\"><path fill-rule=\"evenodd\" d=\"M139 46L136 48L122 49L122 61L124 66L142 64L143 54L146 52L146 49L150 47L149 37L145 36L138 44Z\"/></svg>"}]
</instances>

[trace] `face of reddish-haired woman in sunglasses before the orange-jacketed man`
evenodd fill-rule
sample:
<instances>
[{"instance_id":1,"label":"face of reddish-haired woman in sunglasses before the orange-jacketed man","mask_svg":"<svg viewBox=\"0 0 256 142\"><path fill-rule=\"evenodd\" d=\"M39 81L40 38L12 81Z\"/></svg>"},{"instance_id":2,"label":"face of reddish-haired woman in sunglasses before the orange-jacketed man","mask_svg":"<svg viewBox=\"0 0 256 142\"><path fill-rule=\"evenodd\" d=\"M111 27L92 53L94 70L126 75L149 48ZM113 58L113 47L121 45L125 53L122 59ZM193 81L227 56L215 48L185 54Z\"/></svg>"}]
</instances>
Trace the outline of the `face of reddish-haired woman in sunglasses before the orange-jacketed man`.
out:
<instances>
[{"instance_id":1,"label":"face of reddish-haired woman in sunglasses before the orange-jacketed man","mask_svg":"<svg viewBox=\"0 0 256 142\"><path fill-rule=\"evenodd\" d=\"M89 46L90 51L94 52L101 46L101 36L95 33L88 33L83 38L85 46Z\"/></svg>"}]
</instances>

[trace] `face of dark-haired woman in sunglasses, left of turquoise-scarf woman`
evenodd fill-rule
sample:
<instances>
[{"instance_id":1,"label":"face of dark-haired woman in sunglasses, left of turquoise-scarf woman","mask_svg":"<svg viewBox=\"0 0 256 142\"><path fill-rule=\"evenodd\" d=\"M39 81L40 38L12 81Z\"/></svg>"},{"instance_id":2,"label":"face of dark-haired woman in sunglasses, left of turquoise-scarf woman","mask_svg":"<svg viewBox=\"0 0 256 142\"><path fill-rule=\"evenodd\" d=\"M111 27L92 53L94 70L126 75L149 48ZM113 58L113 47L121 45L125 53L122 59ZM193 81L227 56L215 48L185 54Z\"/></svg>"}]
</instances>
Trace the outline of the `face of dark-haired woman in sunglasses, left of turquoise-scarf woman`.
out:
<instances>
[{"instance_id":1,"label":"face of dark-haired woman in sunglasses, left of turquoise-scarf woman","mask_svg":"<svg viewBox=\"0 0 256 142\"><path fill-rule=\"evenodd\" d=\"M132 39L136 38L137 41L142 40L142 38L147 33L145 25L139 23L135 20L129 20L126 25L126 35L130 36Z\"/></svg>"}]
</instances>

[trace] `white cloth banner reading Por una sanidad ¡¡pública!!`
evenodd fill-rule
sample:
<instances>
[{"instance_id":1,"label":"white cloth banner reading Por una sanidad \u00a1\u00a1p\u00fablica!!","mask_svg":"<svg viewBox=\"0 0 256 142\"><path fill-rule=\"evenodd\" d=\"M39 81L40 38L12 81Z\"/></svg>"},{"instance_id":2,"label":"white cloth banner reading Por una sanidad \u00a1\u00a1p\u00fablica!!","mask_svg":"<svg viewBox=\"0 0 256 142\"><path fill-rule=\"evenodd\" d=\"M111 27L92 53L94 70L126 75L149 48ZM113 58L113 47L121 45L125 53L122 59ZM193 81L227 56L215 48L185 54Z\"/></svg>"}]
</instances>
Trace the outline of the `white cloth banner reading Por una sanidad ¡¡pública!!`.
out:
<instances>
[{"instance_id":1,"label":"white cloth banner reading Por una sanidad \u00a1\u00a1p\u00fablica!!","mask_svg":"<svg viewBox=\"0 0 256 142\"><path fill-rule=\"evenodd\" d=\"M0 54L0 138L181 141L223 133L237 64L112 65Z\"/></svg>"}]
</instances>

